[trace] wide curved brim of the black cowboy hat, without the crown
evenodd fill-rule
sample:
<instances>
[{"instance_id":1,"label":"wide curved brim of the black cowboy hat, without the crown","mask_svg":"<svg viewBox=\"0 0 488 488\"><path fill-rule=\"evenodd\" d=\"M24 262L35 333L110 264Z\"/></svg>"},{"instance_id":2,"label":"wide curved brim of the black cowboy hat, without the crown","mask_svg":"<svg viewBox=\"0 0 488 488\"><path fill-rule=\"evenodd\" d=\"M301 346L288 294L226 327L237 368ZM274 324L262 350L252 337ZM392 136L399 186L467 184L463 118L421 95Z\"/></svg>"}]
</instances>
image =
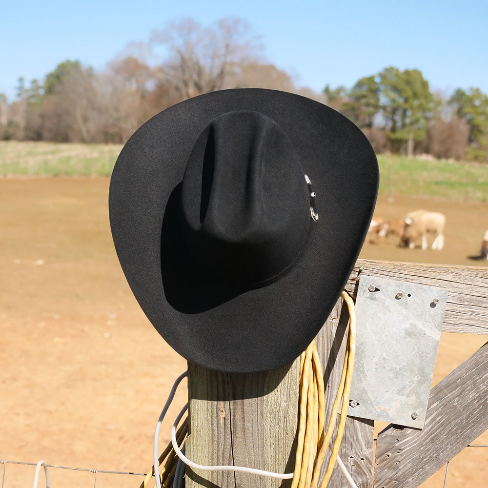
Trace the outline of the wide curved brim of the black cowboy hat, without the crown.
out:
<instances>
[{"instance_id":1,"label":"wide curved brim of the black cowboy hat, without the crown","mask_svg":"<svg viewBox=\"0 0 488 488\"><path fill-rule=\"evenodd\" d=\"M248 291L209 282L172 230L196 139L233 110L280 125L312 182L319 214L292 269ZM127 281L170 346L210 369L265 371L298 357L324 324L366 237L378 183L371 145L343 115L286 92L223 90L164 110L129 139L110 182L110 225Z\"/></svg>"}]
</instances>

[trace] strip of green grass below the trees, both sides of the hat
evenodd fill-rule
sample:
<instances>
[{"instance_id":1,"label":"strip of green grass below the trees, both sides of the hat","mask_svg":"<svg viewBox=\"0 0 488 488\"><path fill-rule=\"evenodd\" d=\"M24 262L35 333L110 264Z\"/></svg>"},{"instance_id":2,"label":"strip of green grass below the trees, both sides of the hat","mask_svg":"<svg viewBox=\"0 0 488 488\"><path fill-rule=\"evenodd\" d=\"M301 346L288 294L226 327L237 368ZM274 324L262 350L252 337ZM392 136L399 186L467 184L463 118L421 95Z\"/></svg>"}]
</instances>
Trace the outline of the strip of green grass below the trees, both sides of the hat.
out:
<instances>
[{"instance_id":1,"label":"strip of green grass below the trees, both sides of the hat","mask_svg":"<svg viewBox=\"0 0 488 488\"><path fill-rule=\"evenodd\" d=\"M0 176L110 176L121 145L0 141ZM380 192L488 201L488 165L378 156Z\"/></svg>"}]
</instances>

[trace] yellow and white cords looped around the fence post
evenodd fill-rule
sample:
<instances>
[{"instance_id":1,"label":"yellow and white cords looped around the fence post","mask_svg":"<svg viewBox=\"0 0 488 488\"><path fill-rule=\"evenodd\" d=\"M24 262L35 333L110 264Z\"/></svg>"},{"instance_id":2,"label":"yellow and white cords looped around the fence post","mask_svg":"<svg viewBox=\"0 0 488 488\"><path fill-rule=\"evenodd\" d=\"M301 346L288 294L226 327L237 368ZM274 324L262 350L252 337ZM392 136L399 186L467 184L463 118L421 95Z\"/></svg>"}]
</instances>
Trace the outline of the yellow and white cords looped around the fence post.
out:
<instances>
[{"instance_id":1,"label":"yellow and white cords looped around the fence post","mask_svg":"<svg viewBox=\"0 0 488 488\"><path fill-rule=\"evenodd\" d=\"M340 460L338 453L346 427L346 415L349 402L349 393L352 382L352 372L354 369L354 357L356 353L356 312L352 298L346 291L341 294L349 312L349 333L347 336L346 352L344 364L339 381L339 388L332 406L331 415L325 430L325 386L322 366L315 343L312 343L300 356L300 407L299 407L299 427L298 444L295 458L295 470L293 473L280 475L252 468L242 468L236 466L202 466L192 463L184 456L184 441L188 433L188 418L183 419L183 424L176 430L186 406L180 412L172 429L172 442L163 450L158 457L158 435L164 415L173 399L176 387L186 376L186 372L180 375L175 382L170 396L160 415L154 436L154 465L147 473L140 488L146 488L155 474L154 466L158 466L159 476L156 479L156 488L179 488L183 486L184 469L182 461L197 469L204 470L236 470L248 471L264 476L280 478L291 478L291 488L317 488L319 487L320 472L325 459L327 449L331 450L330 458L325 469L324 477L320 483L320 488L325 488L330 480L336 461L344 472L349 485L357 488L344 464ZM337 428L337 435L333 444L331 443L332 434L336 426L341 406L341 418ZM183 452L182 452L183 451ZM163 468L159 468L161 464Z\"/></svg>"}]
</instances>

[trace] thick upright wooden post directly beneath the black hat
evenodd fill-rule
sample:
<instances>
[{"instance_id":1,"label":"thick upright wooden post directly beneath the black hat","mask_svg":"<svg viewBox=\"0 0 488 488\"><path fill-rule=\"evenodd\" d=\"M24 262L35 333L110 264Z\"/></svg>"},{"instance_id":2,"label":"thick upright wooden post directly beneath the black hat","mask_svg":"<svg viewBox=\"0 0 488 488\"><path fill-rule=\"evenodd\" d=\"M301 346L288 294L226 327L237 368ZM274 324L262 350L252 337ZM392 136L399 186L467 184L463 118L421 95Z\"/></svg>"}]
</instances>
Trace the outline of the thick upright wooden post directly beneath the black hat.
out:
<instances>
[{"instance_id":1,"label":"thick upright wooden post directly beneath the black hat","mask_svg":"<svg viewBox=\"0 0 488 488\"><path fill-rule=\"evenodd\" d=\"M299 359L265 373L219 373L188 364L190 435L187 456L198 464L293 472ZM231 471L186 468L186 487L288 487L279 480Z\"/></svg>"}]
</instances>

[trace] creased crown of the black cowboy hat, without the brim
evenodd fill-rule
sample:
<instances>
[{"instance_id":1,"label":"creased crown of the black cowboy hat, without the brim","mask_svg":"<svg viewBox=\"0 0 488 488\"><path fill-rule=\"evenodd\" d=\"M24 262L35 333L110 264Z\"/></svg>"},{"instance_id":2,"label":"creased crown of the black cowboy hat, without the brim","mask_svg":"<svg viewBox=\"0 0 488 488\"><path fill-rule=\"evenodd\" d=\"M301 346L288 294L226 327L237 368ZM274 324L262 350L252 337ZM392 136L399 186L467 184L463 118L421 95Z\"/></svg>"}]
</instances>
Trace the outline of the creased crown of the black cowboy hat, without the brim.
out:
<instances>
[{"instance_id":1,"label":"creased crown of the black cowboy hat, without the brim","mask_svg":"<svg viewBox=\"0 0 488 488\"><path fill-rule=\"evenodd\" d=\"M209 278L246 289L292 267L311 220L293 145L254 111L224 113L203 130L186 165L181 208L194 262Z\"/></svg>"}]
</instances>

